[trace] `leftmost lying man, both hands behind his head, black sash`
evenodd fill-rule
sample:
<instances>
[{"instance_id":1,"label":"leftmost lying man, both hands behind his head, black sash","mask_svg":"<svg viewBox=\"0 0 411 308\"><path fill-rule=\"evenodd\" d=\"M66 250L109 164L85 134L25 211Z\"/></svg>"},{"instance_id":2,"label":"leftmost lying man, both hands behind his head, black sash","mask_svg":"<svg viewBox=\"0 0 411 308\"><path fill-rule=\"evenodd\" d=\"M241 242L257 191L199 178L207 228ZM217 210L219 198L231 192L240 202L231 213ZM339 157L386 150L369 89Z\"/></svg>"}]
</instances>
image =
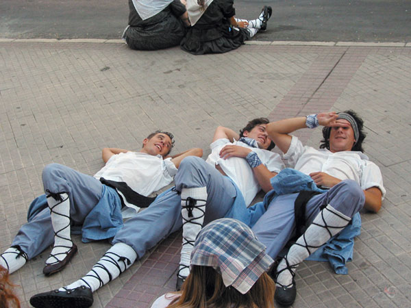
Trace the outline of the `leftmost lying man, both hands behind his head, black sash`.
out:
<instances>
[{"instance_id":1,"label":"leftmost lying man, both hands behind his head, black sash","mask_svg":"<svg viewBox=\"0 0 411 308\"><path fill-rule=\"evenodd\" d=\"M32 203L38 207L30 207L29 222L0 255L0 265L11 274L54 243L43 273L62 270L77 252L71 240L73 225L82 227L83 242L112 238L123 226L122 207L129 213L149 206L154 198L147 196L173 181L184 157L203 155L201 149L191 149L170 157L173 144L171 133L155 131L142 141L140 152L105 148L105 166L94 177L60 164L47 165L42 172L46 195Z\"/></svg>"}]
</instances>

